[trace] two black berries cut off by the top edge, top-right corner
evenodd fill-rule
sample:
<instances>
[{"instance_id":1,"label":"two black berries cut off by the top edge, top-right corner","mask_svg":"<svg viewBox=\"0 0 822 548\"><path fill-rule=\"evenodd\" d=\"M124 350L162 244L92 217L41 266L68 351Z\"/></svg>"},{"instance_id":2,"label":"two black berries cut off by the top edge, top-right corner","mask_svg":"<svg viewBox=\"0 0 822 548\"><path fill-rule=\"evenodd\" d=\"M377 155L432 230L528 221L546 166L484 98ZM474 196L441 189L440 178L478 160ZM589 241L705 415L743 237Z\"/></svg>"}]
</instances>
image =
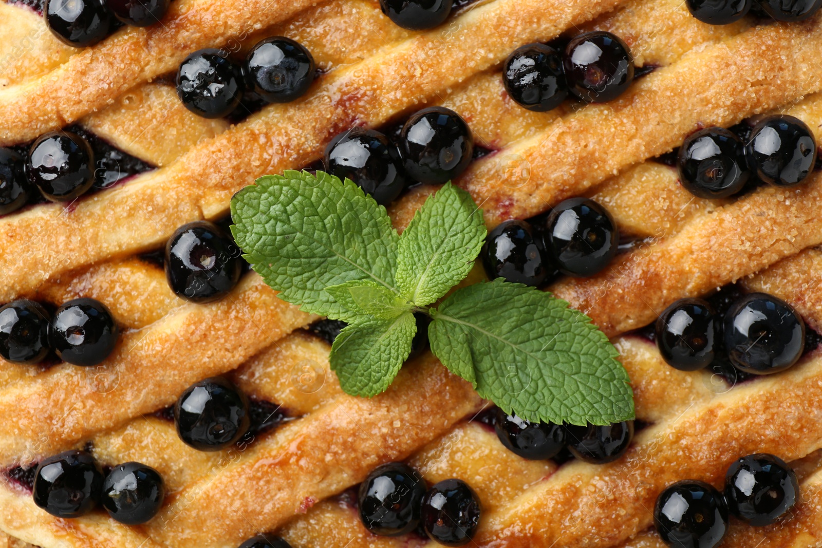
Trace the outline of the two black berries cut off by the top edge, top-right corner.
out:
<instances>
[{"instance_id":1,"label":"two black berries cut off by the top edge, top-right corner","mask_svg":"<svg viewBox=\"0 0 822 548\"><path fill-rule=\"evenodd\" d=\"M820 0L686 0L692 16L709 25L728 25L748 12L774 21L805 21L819 11Z\"/></svg>"}]
</instances>

